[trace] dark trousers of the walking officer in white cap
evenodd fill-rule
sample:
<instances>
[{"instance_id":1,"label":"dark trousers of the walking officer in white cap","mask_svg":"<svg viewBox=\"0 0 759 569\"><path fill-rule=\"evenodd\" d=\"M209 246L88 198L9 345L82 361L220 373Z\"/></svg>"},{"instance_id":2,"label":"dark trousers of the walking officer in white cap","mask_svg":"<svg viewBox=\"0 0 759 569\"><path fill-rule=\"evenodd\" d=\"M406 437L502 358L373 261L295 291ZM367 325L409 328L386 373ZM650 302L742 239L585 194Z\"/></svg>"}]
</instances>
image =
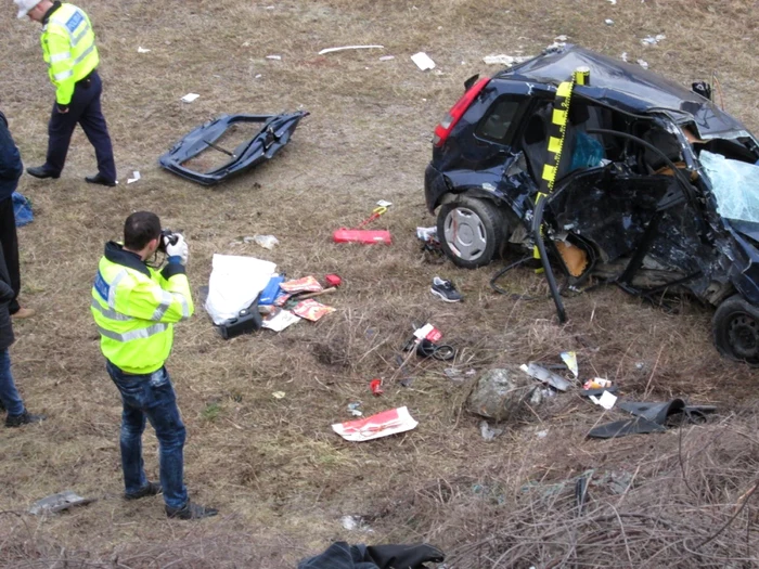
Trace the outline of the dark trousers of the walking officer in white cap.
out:
<instances>
[{"instance_id":1,"label":"dark trousers of the walking officer in white cap","mask_svg":"<svg viewBox=\"0 0 759 569\"><path fill-rule=\"evenodd\" d=\"M114 151L111 144L111 135L105 124L105 117L100 106L100 95L103 92L103 83L98 72L92 72L87 79L82 79L74 89L74 96L68 105L68 113L59 113L57 104L53 104L53 112L48 125L48 158L44 169L54 174L60 174L66 163L68 145L77 124L87 134L90 144L94 146L98 158L98 171L108 181L116 181L116 165Z\"/></svg>"}]
</instances>

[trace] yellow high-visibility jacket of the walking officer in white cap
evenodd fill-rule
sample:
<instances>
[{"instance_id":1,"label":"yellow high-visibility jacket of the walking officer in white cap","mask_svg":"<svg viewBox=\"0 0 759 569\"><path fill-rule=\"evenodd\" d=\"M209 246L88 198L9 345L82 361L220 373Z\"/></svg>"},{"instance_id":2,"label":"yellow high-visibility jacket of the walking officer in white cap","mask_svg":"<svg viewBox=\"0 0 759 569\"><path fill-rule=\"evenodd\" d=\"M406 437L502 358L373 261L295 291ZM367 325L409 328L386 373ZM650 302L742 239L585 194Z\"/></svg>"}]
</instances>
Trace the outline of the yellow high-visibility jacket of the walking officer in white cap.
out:
<instances>
[{"instance_id":1,"label":"yellow high-visibility jacket of the walking officer in white cap","mask_svg":"<svg viewBox=\"0 0 759 569\"><path fill-rule=\"evenodd\" d=\"M42 55L60 105L72 102L74 86L98 67L90 18L73 4L61 4L42 28Z\"/></svg>"}]
</instances>

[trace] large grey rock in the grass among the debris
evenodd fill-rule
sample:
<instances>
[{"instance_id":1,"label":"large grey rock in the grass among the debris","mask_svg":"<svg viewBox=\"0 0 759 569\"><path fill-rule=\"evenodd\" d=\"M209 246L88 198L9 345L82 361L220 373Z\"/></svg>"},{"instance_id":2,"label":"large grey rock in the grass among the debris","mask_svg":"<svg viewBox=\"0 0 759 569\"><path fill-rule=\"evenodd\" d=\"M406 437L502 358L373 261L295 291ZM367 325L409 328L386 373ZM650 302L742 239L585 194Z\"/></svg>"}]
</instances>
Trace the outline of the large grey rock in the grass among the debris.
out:
<instances>
[{"instance_id":1,"label":"large grey rock in the grass among the debris","mask_svg":"<svg viewBox=\"0 0 759 569\"><path fill-rule=\"evenodd\" d=\"M540 396L540 385L518 365L506 365L485 372L472 389L467 404L476 415L499 422L513 421L536 396Z\"/></svg>"}]
</instances>

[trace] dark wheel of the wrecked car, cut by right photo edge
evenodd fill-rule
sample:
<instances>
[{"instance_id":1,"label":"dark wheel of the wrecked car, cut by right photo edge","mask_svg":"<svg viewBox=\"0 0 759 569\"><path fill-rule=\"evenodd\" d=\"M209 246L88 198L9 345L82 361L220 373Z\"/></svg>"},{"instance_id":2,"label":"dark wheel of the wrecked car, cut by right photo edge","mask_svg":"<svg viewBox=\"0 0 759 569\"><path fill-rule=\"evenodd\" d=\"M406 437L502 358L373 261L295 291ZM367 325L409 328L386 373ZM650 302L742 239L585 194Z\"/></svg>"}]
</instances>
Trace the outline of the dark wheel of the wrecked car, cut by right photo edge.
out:
<instances>
[{"instance_id":1,"label":"dark wheel of the wrecked car, cut by right photo edge","mask_svg":"<svg viewBox=\"0 0 759 569\"><path fill-rule=\"evenodd\" d=\"M725 358L759 367L759 309L741 295L722 302L711 320L715 346Z\"/></svg>"}]
</instances>

